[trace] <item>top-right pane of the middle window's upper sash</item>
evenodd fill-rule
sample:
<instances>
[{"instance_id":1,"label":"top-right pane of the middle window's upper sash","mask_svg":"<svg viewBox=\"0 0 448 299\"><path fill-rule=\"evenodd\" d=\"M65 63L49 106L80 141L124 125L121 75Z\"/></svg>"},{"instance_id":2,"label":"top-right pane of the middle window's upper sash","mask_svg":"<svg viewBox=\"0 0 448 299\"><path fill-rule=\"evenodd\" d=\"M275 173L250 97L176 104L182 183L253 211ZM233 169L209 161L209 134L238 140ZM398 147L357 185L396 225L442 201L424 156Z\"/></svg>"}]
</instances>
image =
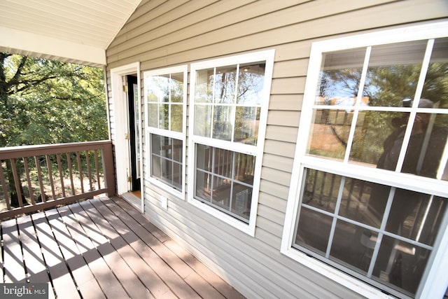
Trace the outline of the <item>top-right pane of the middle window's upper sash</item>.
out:
<instances>
[{"instance_id":1,"label":"top-right pane of the middle window's upper sash","mask_svg":"<svg viewBox=\"0 0 448 299\"><path fill-rule=\"evenodd\" d=\"M237 104L261 104L265 67L265 62L239 66Z\"/></svg>"}]
</instances>

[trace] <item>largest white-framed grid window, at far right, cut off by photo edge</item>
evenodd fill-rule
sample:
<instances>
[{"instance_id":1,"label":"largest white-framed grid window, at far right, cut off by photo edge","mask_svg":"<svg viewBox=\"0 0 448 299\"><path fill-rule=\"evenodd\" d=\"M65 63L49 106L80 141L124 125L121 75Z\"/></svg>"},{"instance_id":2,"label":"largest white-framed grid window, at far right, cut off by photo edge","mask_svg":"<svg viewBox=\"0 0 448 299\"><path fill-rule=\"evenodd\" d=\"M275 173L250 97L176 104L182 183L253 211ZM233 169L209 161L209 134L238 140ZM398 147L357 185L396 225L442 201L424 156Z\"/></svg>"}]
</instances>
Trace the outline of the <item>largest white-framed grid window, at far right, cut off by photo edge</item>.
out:
<instances>
[{"instance_id":1,"label":"largest white-framed grid window, at far right, cut off by photo edge","mask_svg":"<svg viewBox=\"0 0 448 299\"><path fill-rule=\"evenodd\" d=\"M311 48L281 251L364 295L446 289L433 284L448 236L446 32Z\"/></svg>"}]
</instances>

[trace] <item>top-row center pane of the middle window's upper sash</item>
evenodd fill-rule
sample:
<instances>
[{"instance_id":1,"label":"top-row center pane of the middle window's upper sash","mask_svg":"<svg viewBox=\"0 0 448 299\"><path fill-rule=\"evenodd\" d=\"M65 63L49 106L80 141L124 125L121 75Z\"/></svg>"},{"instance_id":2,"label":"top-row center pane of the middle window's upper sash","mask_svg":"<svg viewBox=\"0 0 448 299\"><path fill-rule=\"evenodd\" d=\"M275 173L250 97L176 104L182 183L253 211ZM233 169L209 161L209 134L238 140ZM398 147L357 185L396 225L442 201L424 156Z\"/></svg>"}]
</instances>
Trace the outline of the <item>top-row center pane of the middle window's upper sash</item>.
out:
<instances>
[{"instance_id":1,"label":"top-row center pane of the middle window's upper sash","mask_svg":"<svg viewBox=\"0 0 448 299\"><path fill-rule=\"evenodd\" d=\"M237 66L218 67L214 77L215 103L235 103Z\"/></svg>"}]
</instances>

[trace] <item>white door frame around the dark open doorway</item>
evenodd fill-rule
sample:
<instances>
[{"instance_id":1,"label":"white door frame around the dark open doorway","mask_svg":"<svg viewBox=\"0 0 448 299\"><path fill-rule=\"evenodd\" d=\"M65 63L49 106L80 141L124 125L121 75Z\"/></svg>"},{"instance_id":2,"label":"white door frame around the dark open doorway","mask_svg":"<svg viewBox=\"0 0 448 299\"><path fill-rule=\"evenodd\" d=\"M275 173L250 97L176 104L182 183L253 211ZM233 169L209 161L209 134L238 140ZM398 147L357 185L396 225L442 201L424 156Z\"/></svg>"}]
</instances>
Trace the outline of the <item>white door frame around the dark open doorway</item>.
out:
<instances>
[{"instance_id":1,"label":"white door frame around the dark open doorway","mask_svg":"<svg viewBox=\"0 0 448 299\"><path fill-rule=\"evenodd\" d=\"M140 75L140 63L134 62L132 64L126 64L122 67L116 67L111 69L111 103L109 109L111 110L111 140L115 147L116 157L116 178L117 178L117 194L123 195L130 190L130 184L127 182L128 176L130 176L130 148L128 140L125 138L129 133L129 116L128 116L128 102L127 92L123 90L123 79L126 81L127 75L137 74L137 87L138 94L137 99L139 106L141 106L141 75ZM140 119L141 117L140 109ZM141 126L143 129L143 126ZM140 169L143 171L143 138L140 138ZM129 172L129 173L128 173ZM141 174L143 177L144 174ZM144 180L141 179L141 212L144 212Z\"/></svg>"}]
</instances>

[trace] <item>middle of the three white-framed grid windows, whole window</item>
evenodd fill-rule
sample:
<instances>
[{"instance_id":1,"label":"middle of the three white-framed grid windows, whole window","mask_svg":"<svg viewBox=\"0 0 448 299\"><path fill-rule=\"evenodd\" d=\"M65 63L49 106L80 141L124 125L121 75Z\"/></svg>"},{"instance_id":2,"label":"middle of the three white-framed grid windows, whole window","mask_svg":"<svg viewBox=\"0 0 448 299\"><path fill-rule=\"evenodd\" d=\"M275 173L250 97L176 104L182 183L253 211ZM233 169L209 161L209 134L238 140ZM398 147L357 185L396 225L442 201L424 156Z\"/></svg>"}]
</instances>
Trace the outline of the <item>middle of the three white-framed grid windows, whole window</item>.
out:
<instances>
[{"instance_id":1,"label":"middle of the three white-framed grid windows, whole window","mask_svg":"<svg viewBox=\"0 0 448 299\"><path fill-rule=\"evenodd\" d=\"M274 51L191 65L192 204L253 235Z\"/></svg>"}]
</instances>

